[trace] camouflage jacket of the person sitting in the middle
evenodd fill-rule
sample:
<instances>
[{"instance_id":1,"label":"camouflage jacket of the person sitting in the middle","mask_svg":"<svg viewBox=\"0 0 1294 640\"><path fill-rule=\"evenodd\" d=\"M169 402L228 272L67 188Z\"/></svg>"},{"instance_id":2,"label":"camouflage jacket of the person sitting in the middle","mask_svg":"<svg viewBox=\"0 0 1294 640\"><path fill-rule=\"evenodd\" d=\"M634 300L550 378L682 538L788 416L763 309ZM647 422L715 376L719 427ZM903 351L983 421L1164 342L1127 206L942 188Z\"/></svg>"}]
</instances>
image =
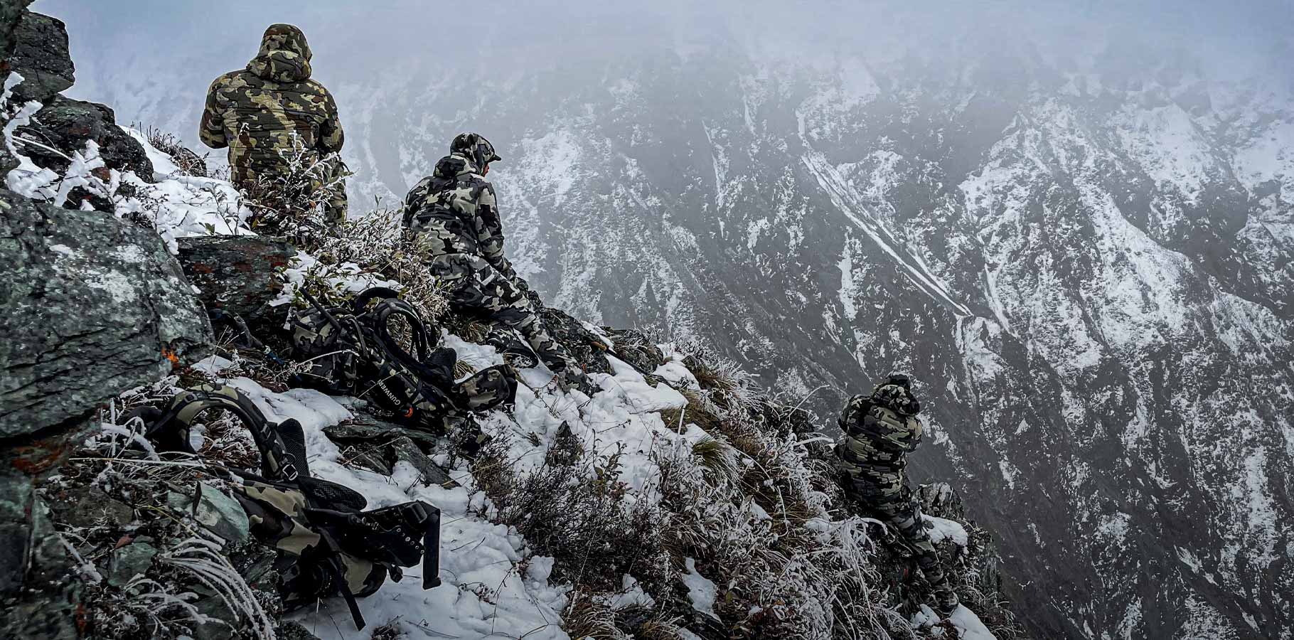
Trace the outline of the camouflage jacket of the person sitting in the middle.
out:
<instances>
[{"instance_id":1,"label":"camouflage jacket of the person sitting in the middle","mask_svg":"<svg viewBox=\"0 0 1294 640\"><path fill-rule=\"evenodd\" d=\"M422 237L432 256L475 255L503 275L515 275L503 256L503 225L494 186L465 155L441 158L435 173L409 191L404 226Z\"/></svg>"}]
</instances>

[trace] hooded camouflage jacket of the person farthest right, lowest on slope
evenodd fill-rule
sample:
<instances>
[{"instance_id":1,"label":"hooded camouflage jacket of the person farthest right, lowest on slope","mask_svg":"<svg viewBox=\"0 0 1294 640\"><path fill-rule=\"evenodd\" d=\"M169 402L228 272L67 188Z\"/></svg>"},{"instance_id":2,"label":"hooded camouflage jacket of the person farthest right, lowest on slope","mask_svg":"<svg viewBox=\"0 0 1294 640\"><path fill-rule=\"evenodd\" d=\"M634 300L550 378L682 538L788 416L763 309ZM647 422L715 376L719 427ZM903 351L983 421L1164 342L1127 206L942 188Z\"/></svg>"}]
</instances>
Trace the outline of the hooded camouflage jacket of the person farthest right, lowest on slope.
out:
<instances>
[{"instance_id":1,"label":"hooded camouflage jacket of the person farthest right, lowest on slope","mask_svg":"<svg viewBox=\"0 0 1294 640\"><path fill-rule=\"evenodd\" d=\"M893 384L849 398L840 416L845 436L836 447L846 471L901 475L907 454L921 443L919 410L911 393Z\"/></svg>"}]
</instances>

